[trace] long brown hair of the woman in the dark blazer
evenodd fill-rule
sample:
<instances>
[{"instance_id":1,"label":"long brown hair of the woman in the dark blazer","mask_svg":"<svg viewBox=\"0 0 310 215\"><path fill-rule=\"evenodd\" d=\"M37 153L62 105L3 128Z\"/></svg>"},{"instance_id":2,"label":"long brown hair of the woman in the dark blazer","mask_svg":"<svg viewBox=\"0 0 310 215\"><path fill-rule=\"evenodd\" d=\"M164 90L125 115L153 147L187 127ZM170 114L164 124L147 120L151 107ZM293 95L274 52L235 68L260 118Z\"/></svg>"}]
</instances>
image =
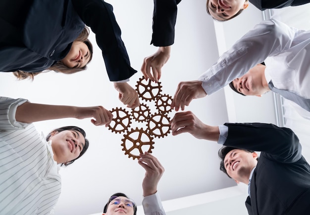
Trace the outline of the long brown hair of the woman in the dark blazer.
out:
<instances>
[{"instance_id":1,"label":"long brown hair of the woman in the dark blazer","mask_svg":"<svg viewBox=\"0 0 310 215\"><path fill-rule=\"evenodd\" d=\"M89 36L89 29L87 26L84 27L83 31L81 32L81 34L74 40L74 41L81 41L84 42L88 49L90 50L90 59L88 61L88 63L91 61L92 57L93 57L93 46L92 43L89 41L88 39ZM87 64L88 64L87 63ZM80 72L85 70L87 67L86 65L82 68L69 68L67 66L65 66L60 60L57 61L54 65L52 65L51 67L47 68L47 70L51 71L55 71L55 72L61 72L64 74L72 74L72 73L76 73L76 72ZM42 72L42 71L41 71ZM38 74L40 74L41 72L25 72L25 71L21 71L21 70L17 70L15 72L13 72L13 74L20 80L22 79L34 79L34 77Z\"/></svg>"}]
</instances>

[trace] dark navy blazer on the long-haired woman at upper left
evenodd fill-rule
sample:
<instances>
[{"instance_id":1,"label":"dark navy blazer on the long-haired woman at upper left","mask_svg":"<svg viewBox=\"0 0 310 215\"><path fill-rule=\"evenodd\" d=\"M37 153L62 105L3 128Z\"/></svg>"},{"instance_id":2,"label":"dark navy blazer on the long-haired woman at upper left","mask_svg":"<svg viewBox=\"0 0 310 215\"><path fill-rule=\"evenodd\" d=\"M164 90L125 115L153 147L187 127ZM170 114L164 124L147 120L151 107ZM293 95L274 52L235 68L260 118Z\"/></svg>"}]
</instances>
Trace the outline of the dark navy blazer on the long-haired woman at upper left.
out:
<instances>
[{"instance_id":1,"label":"dark navy blazer on the long-haired woman at upper left","mask_svg":"<svg viewBox=\"0 0 310 215\"><path fill-rule=\"evenodd\" d=\"M39 72L49 68L68 54L86 24L96 34L110 81L124 80L137 72L130 66L112 5L103 0L25 1L28 13L22 26L8 23L9 14L0 15L3 31L12 31L4 39L0 37L0 71ZM14 43L9 41L16 34L21 36ZM23 46L14 46L16 40Z\"/></svg>"}]
</instances>

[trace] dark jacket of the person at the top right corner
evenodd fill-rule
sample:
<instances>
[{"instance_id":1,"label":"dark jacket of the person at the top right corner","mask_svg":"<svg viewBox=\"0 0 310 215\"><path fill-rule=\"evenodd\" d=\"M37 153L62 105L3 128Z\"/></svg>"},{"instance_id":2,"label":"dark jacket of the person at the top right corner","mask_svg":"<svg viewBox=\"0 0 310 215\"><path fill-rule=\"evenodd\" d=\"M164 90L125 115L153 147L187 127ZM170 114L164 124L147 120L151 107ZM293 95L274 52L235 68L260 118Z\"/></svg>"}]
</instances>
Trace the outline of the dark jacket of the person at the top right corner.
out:
<instances>
[{"instance_id":1,"label":"dark jacket of the person at the top right corner","mask_svg":"<svg viewBox=\"0 0 310 215\"><path fill-rule=\"evenodd\" d=\"M260 10L271 8L282 8L288 6L298 6L309 3L310 0L249 0Z\"/></svg>"}]
</instances>

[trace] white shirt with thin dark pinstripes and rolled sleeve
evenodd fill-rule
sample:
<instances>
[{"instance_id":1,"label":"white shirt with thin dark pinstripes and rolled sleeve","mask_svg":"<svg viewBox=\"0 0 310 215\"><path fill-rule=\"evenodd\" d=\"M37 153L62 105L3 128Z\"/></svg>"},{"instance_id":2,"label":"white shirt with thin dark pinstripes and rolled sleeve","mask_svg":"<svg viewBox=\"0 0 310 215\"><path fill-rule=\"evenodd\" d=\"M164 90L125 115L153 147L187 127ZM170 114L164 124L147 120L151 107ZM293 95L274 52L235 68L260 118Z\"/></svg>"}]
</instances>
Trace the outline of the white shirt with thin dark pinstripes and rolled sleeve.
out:
<instances>
[{"instance_id":1,"label":"white shirt with thin dark pinstripes and rolled sleeve","mask_svg":"<svg viewBox=\"0 0 310 215\"><path fill-rule=\"evenodd\" d=\"M0 214L48 215L61 191L51 142L33 124L17 122L25 99L0 97Z\"/></svg>"}]
</instances>

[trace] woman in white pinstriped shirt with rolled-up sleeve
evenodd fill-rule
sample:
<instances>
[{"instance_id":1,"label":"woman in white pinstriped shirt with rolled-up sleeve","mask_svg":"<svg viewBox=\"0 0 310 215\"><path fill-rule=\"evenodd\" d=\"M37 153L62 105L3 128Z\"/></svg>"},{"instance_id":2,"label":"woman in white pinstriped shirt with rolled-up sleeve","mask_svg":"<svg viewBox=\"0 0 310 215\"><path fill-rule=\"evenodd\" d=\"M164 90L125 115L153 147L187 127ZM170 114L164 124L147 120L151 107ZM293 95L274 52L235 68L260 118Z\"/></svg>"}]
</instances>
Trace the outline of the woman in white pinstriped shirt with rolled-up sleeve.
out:
<instances>
[{"instance_id":1,"label":"woman in white pinstriped shirt with rolled-up sleeve","mask_svg":"<svg viewBox=\"0 0 310 215\"><path fill-rule=\"evenodd\" d=\"M59 165L73 163L88 149L85 131L79 127L54 129L44 138L32 122L94 117L92 123L103 125L112 118L108 112L103 107L41 105L0 97L0 214L52 214L61 192Z\"/></svg>"}]
</instances>

